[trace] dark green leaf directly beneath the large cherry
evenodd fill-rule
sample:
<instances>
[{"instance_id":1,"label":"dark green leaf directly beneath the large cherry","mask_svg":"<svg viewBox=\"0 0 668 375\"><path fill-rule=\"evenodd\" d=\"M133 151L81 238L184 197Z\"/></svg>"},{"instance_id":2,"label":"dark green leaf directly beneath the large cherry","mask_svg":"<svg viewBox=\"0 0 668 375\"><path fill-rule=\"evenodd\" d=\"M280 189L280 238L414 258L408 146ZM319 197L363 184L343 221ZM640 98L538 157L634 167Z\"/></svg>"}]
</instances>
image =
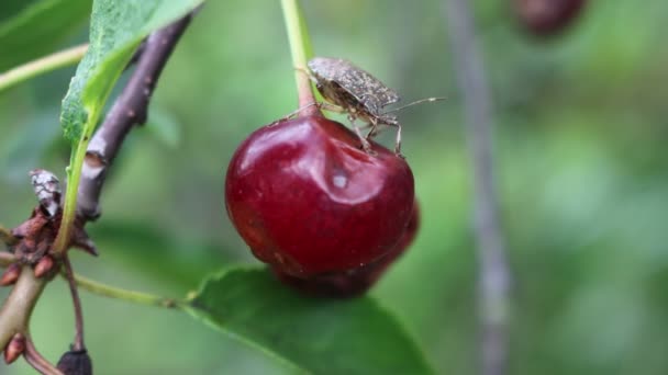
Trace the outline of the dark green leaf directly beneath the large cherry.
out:
<instances>
[{"instance_id":1,"label":"dark green leaf directly beneath the large cherry","mask_svg":"<svg viewBox=\"0 0 668 375\"><path fill-rule=\"evenodd\" d=\"M370 297L307 298L267 270L209 279L189 312L314 374L432 374L403 327Z\"/></svg>"}]
</instances>

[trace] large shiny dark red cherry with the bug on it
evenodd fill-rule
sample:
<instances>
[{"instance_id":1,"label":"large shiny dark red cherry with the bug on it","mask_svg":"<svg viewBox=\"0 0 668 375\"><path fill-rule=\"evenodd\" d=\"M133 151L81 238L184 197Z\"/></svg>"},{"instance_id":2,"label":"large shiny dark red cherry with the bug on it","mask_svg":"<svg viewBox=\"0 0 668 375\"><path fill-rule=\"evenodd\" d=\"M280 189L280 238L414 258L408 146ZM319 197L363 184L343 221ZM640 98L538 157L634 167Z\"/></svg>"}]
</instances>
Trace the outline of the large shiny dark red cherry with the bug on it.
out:
<instances>
[{"instance_id":1,"label":"large shiny dark red cherry with the bug on it","mask_svg":"<svg viewBox=\"0 0 668 375\"><path fill-rule=\"evenodd\" d=\"M265 126L235 151L227 213L259 260L308 277L388 254L413 207L408 163L339 123L305 116Z\"/></svg>"}]
</instances>

